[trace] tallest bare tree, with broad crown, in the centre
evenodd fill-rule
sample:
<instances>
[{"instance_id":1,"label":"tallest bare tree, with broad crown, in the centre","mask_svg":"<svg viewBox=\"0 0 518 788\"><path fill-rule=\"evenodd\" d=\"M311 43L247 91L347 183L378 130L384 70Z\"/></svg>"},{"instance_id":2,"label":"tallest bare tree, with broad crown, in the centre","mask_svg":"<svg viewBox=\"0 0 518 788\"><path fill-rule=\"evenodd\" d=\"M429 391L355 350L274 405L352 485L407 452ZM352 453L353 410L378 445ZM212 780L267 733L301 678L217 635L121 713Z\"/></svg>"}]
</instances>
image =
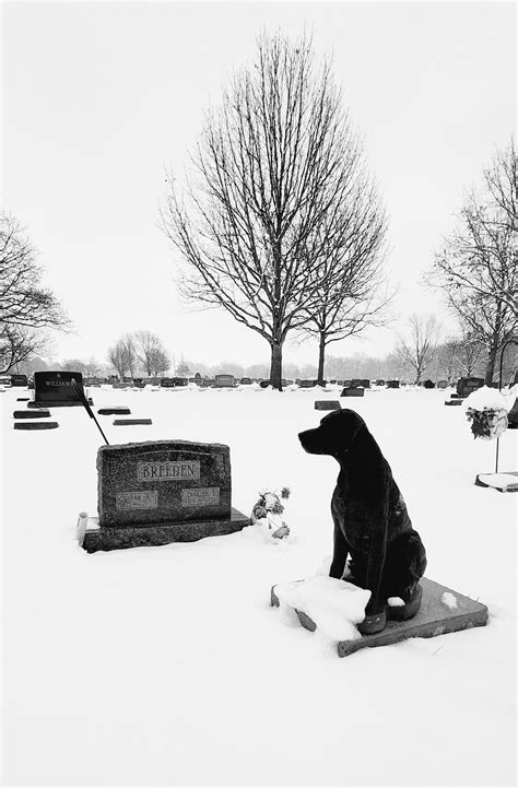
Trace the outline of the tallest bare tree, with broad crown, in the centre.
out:
<instances>
[{"instance_id":1,"label":"tallest bare tree, with broad crown, in the centre","mask_svg":"<svg viewBox=\"0 0 518 788\"><path fill-rule=\"evenodd\" d=\"M276 34L208 116L184 199L167 179L162 224L186 263L181 292L268 341L278 389L287 333L334 284L325 261L351 248L362 155L330 64L317 68L310 40Z\"/></svg>"}]
</instances>

